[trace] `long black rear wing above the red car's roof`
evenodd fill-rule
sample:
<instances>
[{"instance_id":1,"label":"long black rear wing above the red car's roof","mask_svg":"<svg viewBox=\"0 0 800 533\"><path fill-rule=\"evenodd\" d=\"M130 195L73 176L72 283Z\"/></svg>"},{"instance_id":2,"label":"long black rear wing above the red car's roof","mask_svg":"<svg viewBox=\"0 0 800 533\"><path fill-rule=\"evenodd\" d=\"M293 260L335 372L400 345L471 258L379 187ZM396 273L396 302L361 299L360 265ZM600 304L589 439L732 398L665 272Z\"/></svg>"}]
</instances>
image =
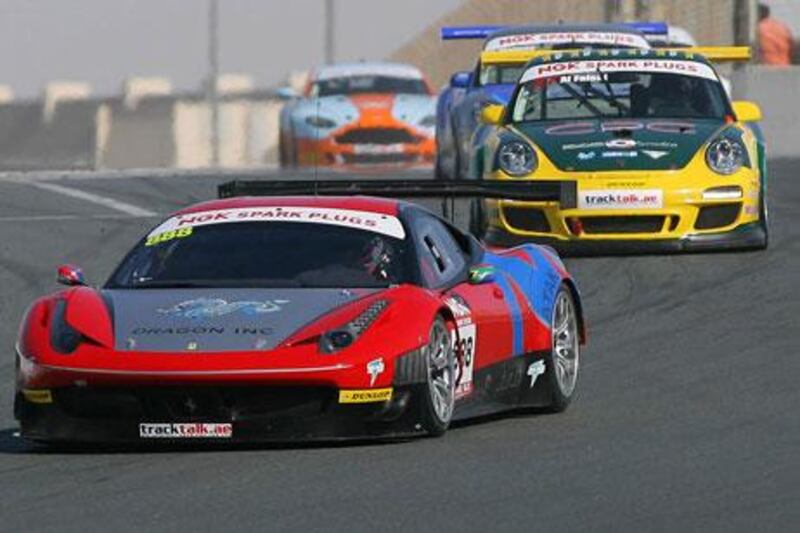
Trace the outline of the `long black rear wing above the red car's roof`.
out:
<instances>
[{"instance_id":1,"label":"long black rear wing above the red car's roof","mask_svg":"<svg viewBox=\"0 0 800 533\"><path fill-rule=\"evenodd\" d=\"M559 202L563 209L577 206L577 182L569 180L234 180L217 188L219 198L238 196L381 196L387 198L441 198L445 213L453 212L456 198L487 198L521 202ZM447 200L451 201L448 209Z\"/></svg>"}]
</instances>

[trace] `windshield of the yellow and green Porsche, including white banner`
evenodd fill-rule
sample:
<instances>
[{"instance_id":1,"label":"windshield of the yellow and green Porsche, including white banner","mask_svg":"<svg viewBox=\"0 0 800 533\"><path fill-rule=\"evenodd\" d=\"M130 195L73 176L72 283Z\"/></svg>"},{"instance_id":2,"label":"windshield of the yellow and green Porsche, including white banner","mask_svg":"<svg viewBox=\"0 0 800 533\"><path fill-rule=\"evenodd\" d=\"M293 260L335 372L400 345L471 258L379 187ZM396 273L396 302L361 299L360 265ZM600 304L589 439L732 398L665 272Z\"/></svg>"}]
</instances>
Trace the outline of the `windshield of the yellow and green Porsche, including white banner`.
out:
<instances>
[{"instance_id":1,"label":"windshield of the yellow and green Porsche, including white banner","mask_svg":"<svg viewBox=\"0 0 800 533\"><path fill-rule=\"evenodd\" d=\"M603 68L633 63L633 69ZM681 74L666 68L637 70L637 61L585 61L540 65L522 77L512 121L588 118L714 118L729 113L725 91L711 67L683 64ZM650 64L659 64L649 61ZM660 64L663 66L664 63ZM545 69L543 67L550 67ZM675 69L675 65L668 68ZM557 70L558 72L554 72Z\"/></svg>"}]
</instances>

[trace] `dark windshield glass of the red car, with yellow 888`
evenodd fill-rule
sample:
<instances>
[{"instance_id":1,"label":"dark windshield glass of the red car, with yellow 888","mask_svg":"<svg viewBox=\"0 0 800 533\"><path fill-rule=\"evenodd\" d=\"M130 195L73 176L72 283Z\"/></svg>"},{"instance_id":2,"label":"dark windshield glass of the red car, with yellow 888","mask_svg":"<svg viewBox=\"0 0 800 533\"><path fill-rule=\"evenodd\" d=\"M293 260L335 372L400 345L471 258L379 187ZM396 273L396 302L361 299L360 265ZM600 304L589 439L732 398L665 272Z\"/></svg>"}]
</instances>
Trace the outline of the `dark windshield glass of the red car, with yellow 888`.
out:
<instances>
[{"instance_id":1,"label":"dark windshield glass of the red car, with yellow 888","mask_svg":"<svg viewBox=\"0 0 800 533\"><path fill-rule=\"evenodd\" d=\"M407 242L328 224L187 226L151 233L107 287L388 287L411 282Z\"/></svg>"}]
</instances>

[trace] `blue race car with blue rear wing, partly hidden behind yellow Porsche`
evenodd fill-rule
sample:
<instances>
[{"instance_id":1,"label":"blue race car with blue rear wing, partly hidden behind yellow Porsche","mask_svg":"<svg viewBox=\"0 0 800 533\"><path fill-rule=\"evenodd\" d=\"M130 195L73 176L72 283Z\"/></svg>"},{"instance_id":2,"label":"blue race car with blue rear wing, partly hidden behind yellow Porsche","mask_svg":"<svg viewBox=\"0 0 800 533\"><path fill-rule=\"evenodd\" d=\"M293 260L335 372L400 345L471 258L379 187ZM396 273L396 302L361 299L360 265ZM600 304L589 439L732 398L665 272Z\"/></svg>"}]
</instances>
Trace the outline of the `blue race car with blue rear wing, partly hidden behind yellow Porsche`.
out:
<instances>
[{"instance_id":1,"label":"blue race car with blue rear wing, partly hidden behind yellow Porsche","mask_svg":"<svg viewBox=\"0 0 800 533\"><path fill-rule=\"evenodd\" d=\"M473 71L457 72L436 104L436 172L439 178L463 178L472 135L481 109L505 104L528 58L521 50L592 48L648 49L648 38L666 35L667 25L583 24L548 26L467 26L442 28L442 39L485 39ZM484 61L484 57L490 57Z\"/></svg>"}]
</instances>

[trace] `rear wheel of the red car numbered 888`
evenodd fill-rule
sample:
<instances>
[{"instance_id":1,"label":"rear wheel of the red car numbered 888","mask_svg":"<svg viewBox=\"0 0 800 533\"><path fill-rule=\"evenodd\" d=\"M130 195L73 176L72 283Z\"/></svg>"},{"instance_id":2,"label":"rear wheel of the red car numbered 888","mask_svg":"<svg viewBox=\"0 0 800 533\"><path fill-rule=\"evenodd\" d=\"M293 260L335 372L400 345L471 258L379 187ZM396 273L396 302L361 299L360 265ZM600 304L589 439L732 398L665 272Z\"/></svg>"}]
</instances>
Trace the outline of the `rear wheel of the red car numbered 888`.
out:
<instances>
[{"instance_id":1,"label":"rear wheel of the red car numbered 888","mask_svg":"<svg viewBox=\"0 0 800 533\"><path fill-rule=\"evenodd\" d=\"M551 350L545 357L545 383L551 403L549 411L561 412L575 394L580 366L578 312L572 292L561 285L556 294L551 317Z\"/></svg>"}]
</instances>

